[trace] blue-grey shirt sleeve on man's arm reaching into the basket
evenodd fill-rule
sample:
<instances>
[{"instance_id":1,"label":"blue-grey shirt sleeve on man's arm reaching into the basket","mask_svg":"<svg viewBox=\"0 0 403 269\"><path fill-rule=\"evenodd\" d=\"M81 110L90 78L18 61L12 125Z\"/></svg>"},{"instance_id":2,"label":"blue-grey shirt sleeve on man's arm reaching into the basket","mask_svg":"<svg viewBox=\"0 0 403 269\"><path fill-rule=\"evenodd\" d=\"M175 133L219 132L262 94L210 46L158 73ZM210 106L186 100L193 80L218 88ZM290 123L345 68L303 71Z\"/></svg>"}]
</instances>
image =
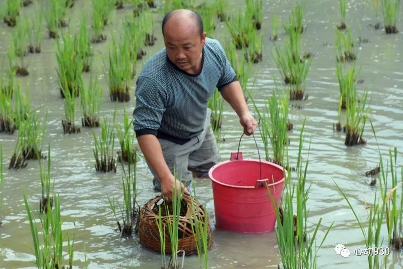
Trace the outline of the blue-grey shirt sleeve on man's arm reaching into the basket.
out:
<instances>
[{"instance_id":1,"label":"blue-grey shirt sleeve on man's arm reaching into the basket","mask_svg":"<svg viewBox=\"0 0 403 269\"><path fill-rule=\"evenodd\" d=\"M136 136L157 134L167 104L166 91L154 80L139 77L136 87L136 107L133 111L133 128Z\"/></svg>"}]
</instances>

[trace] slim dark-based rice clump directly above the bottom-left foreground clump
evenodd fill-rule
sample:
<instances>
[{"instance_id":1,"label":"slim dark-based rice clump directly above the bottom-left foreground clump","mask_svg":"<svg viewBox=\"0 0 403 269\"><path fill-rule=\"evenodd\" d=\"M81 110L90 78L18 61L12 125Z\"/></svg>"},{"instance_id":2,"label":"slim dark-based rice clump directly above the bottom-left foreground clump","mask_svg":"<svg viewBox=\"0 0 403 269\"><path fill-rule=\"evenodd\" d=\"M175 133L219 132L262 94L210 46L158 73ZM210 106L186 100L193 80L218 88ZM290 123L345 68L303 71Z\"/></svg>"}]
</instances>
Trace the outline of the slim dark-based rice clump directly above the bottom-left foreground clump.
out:
<instances>
[{"instance_id":1,"label":"slim dark-based rice clump directly above the bottom-left foreground clump","mask_svg":"<svg viewBox=\"0 0 403 269\"><path fill-rule=\"evenodd\" d=\"M42 161L39 159L39 171L41 178L41 189L42 189L42 197L39 201L39 212L47 213L48 208L51 210L53 206L53 197L50 196L50 189L53 189L53 186L50 185L50 144L47 148L47 167L42 164Z\"/></svg>"}]
</instances>

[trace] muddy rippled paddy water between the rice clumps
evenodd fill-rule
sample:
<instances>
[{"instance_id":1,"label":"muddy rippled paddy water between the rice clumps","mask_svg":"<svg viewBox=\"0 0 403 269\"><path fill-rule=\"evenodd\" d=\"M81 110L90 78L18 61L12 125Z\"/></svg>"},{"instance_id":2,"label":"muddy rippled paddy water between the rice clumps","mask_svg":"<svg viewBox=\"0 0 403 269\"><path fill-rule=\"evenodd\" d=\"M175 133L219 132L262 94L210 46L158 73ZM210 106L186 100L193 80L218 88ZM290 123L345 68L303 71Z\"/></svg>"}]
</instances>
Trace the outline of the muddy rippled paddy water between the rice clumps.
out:
<instances>
[{"instance_id":1,"label":"muddy rippled paddy water between the rice clumps","mask_svg":"<svg viewBox=\"0 0 403 269\"><path fill-rule=\"evenodd\" d=\"M310 217L309 231L312 232L319 218L322 218L318 240L324 231L334 222L328 238L318 251L318 267L321 268L367 268L366 256L353 254L356 247L364 247L363 235L349 209L346 201L335 187L332 179L344 189L354 209L365 220L367 212L364 202L373 201L375 191L379 188L370 187L370 179L365 177L365 171L374 168L378 163L378 151L370 125L367 124L364 138L367 145L347 148L344 146L344 134L333 131L332 124L337 121L337 106L339 98L338 83L335 78L334 63L334 25L340 23L338 1L306 1L306 16L304 24L307 31L303 34L305 51L314 53L311 69L306 83L306 93L309 99L293 102L301 109L290 109L290 120L294 130L290 134L289 149L291 165L295 166L298 153L298 136L303 119L306 117L305 160L308 142L311 141L309 155L309 172L307 184L311 185L308 200ZM157 2L159 6L162 3ZM242 2L243 3L243 2ZM264 104L264 99L270 95L274 87L274 79L280 75L271 56L273 43L271 35L271 15L276 13L281 23L288 21L290 8L294 1L270 1L264 3L263 62L253 65L252 76L256 82L250 88L258 106ZM234 3L230 7L236 9ZM81 13L89 14L89 1L77 0L75 7L69 12L70 25L73 31L79 26ZM34 16L33 7L25 8L23 14ZM104 44L95 45L95 68L99 81L104 89L104 100L101 105L102 115L111 118L115 104L109 101L108 88L104 76L103 64L108 60L108 45L111 36L121 30L123 15L129 15L128 8L113 12L111 24L106 28L108 40ZM155 14L155 31L158 37L156 45L146 48L147 57L163 46L160 34L162 16ZM347 11L347 23L352 26L356 38L362 36L369 40L359 47L358 63L362 65L359 91L368 90L371 97L370 116L376 130L381 152L386 158L387 149L397 147L403 150L401 133L403 133L403 36L386 35L382 30L373 30L369 24L380 22L376 18L372 1L350 1ZM400 20L397 28L403 30ZM361 30L360 30L361 29ZM229 40L228 33L222 23L217 23L215 37L223 44ZM280 41L286 38L281 30ZM5 24L0 25L0 51L2 57L11 42L11 29ZM117 173L97 173L94 168L92 154L93 138L90 129L82 128L80 134L64 135L61 118L63 115L62 99L60 98L55 59L55 41L43 37L42 53L29 55L24 61L28 65L30 75L18 78L22 88L29 85L31 106L38 109L42 115L48 111L47 132L44 145L50 143L52 158L52 179L54 191L60 195L61 214L65 217L63 229L74 234L75 254L74 264L84 266L84 250L89 267L141 267L158 268L160 255L145 250L140 245L137 236L121 239L116 231L115 220L108 205L108 197L121 195L121 168ZM138 61L138 73L142 62ZM1 71L5 73L4 70ZM85 80L89 78L84 75ZM135 90L135 80L131 83L132 93ZM133 97L133 95L132 95ZM126 104L117 104L118 118L123 109L132 111L135 100ZM78 112L77 123L79 123ZM227 105L224 112L223 131L225 142L220 144L222 160L227 160L231 151L236 150L241 128L235 113ZM8 166L14 150L17 135L0 134L3 143L5 165ZM262 144L259 143L262 152ZM117 149L116 142L116 149ZM45 149L45 147L44 147ZM245 138L241 150L245 157L257 158L252 139ZM398 156L399 164L402 162ZM31 208L39 207L40 179L38 163L29 161L25 169L6 171L4 189L5 205L3 209L3 226L0 228L0 267L29 267L34 266L32 237L26 216L23 193L28 197ZM152 176L144 162L138 167L138 186L140 190L139 204L143 205L156 193L151 185ZM197 191L202 203L207 203L207 211L214 229L214 204L210 180L197 179ZM39 219L37 219L38 221ZM214 229L215 245L209 253L211 268L265 268L277 267L280 259L274 232L248 235L235 234ZM382 230L386 236L386 229ZM318 242L319 243L319 242ZM349 258L335 255L336 244L344 244L351 251ZM387 245L384 243L384 247ZM68 257L67 254L65 257ZM402 266L400 251L391 251L388 258L388 268ZM197 258L186 258L187 268L197 266Z\"/></svg>"}]
</instances>

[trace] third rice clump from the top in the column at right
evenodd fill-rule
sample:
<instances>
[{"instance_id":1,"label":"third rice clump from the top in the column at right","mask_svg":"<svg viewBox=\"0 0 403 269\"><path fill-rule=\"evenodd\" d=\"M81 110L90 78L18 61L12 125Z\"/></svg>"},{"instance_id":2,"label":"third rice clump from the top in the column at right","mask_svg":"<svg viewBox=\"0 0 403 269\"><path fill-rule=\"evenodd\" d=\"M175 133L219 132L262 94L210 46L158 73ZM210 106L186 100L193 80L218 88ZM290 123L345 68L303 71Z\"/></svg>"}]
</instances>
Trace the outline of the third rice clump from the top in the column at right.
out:
<instances>
[{"instance_id":1,"label":"third rice clump from the top in the column at right","mask_svg":"<svg viewBox=\"0 0 403 269\"><path fill-rule=\"evenodd\" d=\"M345 71L343 65L340 62L336 62L336 76L340 89L340 109L346 109L347 92L357 91L355 84L355 72L355 64L352 65L350 70Z\"/></svg>"}]
</instances>

